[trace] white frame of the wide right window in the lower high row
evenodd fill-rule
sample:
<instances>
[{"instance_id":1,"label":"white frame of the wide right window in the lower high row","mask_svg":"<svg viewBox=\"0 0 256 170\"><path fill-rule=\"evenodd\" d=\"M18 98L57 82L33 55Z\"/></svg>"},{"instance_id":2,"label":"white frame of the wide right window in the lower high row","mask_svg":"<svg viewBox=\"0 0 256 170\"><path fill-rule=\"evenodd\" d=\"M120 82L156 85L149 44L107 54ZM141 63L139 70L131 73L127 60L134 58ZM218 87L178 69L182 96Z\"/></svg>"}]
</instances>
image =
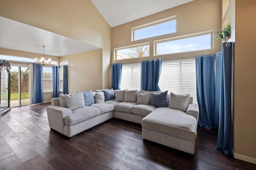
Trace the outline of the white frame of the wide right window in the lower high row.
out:
<instances>
[{"instance_id":1,"label":"white frame of the wide right window in the lower high row","mask_svg":"<svg viewBox=\"0 0 256 170\"><path fill-rule=\"evenodd\" d=\"M193 51L183 51L183 52L176 52L176 53L167 53L167 54L157 54L157 43L164 43L164 42L168 42L168 41L175 41L175 40L180 40L180 39L186 39L186 38L191 38L191 37L198 37L201 35L208 35L210 34L210 49L202 49L202 50L193 50ZM212 50L213 49L213 43L214 43L214 39L213 39L213 30L211 31L204 31L204 32L200 32L200 33L192 33L192 34L188 34L188 35L182 35L182 36L178 36L178 37L171 37L171 38L166 38L166 39L160 39L160 40L155 40L154 41L154 56L161 56L161 55L170 55L170 54L178 54L178 53L190 53L190 52L194 52L194 51L206 51L206 50Z\"/></svg>"}]
</instances>

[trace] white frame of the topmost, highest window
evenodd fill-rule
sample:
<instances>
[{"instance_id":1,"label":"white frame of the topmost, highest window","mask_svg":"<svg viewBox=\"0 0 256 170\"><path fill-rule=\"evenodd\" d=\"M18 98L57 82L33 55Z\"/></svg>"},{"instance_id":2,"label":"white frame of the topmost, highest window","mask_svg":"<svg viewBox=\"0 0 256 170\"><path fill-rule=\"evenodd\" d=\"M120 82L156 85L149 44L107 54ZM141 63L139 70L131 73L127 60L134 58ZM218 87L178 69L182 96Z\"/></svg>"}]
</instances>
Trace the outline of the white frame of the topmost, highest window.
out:
<instances>
[{"instance_id":1,"label":"white frame of the topmost, highest window","mask_svg":"<svg viewBox=\"0 0 256 170\"><path fill-rule=\"evenodd\" d=\"M140 26L137 26L137 27L132 27L132 41L142 40L142 39L134 40L134 31L136 31L138 29L144 29L144 28L147 28L147 27L151 27L153 25L158 25L158 24L161 24L161 23L165 23L165 22L168 22L168 21L172 21L172 20L176 20L175 32L173 32L173 33L176 33L177 32L177 15L174 15L174 16L171 16L171 17L168 17L168 18L164 18L164 19L161 19L161 20L146 23L144 25L140 25ZM161 34L161 35L166 35L166 34ZM156 36L161 36L161 35L156 35ZM156 37L156 36L153 36L153 37ZM151 37L147 37L147 38L151 38ZM144 39L147 39L147 38L144 38Z\"/></svg>"}]
</instances>

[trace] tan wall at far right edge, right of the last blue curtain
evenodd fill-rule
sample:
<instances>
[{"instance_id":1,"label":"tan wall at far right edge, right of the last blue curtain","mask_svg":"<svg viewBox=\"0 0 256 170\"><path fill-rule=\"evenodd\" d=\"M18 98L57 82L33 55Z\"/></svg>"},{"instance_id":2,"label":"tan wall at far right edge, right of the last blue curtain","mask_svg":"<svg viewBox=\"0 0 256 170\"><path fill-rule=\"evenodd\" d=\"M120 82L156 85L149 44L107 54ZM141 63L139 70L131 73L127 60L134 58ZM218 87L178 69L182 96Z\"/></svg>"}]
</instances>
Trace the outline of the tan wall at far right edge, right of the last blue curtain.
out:
<instances>
[{"instance_id":1,"label":"tan wall at far right edge, right of the last blue curtain","mask_svg":"<svg viewBox=\"0 0 256 170\"><path fill-rule=\"evenodd\" d=\"M236 0L234 156L256 164L256 1Z\"/></svg>"}]
</instances>

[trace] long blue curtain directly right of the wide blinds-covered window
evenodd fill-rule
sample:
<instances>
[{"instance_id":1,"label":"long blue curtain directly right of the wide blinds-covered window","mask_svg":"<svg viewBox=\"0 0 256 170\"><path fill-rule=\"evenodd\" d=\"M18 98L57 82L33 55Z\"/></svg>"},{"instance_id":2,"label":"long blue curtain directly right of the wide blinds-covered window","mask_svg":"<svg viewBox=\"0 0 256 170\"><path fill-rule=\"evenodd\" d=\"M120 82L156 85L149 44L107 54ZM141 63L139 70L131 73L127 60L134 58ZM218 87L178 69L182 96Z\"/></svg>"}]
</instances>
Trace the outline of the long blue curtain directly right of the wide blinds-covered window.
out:
<instances>
[{"instance_id":1,"label":"long blue curtain directly right of the wide blinds-covered window","mask_svg":"<svg viewBox=\"0 0 256 170\"><path fill-rule=\"evenodd\" d=\"M196 93L200 127L217 128L215 117L214 54L196 57Z\"/></svg>"}]
</instances>

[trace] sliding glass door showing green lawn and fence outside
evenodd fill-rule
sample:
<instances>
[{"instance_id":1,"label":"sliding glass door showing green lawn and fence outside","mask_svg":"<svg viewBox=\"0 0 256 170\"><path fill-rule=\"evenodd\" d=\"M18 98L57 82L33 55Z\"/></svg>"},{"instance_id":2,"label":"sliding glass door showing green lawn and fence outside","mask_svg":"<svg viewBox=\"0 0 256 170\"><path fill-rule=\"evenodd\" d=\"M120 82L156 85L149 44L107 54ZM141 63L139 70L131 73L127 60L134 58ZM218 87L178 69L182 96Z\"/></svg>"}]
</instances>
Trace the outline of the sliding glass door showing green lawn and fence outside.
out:
<instances>
[{"instance_id":1,"label":"sliding glass door showing green lawn and fence outside","mask_svg":"<svg viewBox=\"0 0 256 170\"><path fill-rule=\"evenodd\" d=\"M10 106L30 104L29 66L11 66L11 97Z\"/></svg>"}]
</instances>

